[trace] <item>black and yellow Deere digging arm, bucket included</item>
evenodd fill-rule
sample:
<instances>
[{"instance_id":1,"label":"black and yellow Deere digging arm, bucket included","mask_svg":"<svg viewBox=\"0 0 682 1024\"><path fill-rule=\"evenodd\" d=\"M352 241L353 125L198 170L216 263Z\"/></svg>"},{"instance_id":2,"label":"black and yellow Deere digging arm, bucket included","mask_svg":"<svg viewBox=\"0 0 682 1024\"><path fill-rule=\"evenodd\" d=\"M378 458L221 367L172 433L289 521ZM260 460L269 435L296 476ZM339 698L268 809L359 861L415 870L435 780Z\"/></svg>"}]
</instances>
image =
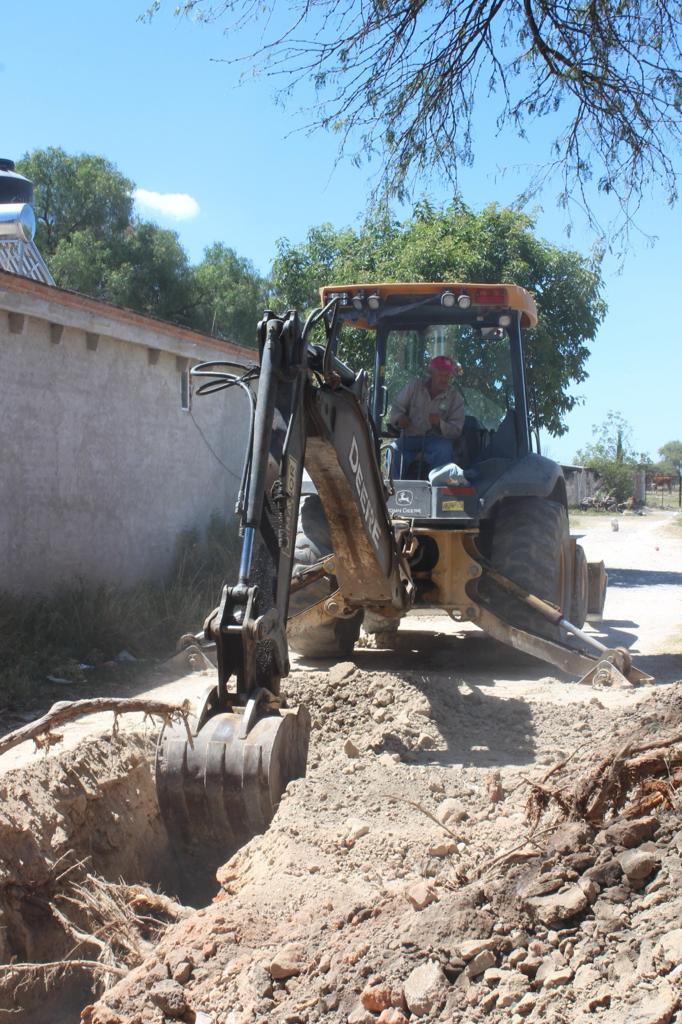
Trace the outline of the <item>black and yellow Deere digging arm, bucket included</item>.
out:
<instances>
[{"instance_id":1,"label":"black and yellow Deere digging arm, bucket included","mask_svg":"<svg viewBox=\"0 0 682 1024\"><path fill-rule=\"evenodd\" d=\"M217 863L267 827L288 782L305 771L307 712L287 709L280 692L289 673L286 627L304 459L329 517L343 601L403 608L410 600L364 377L333 355L335 305L304 327L295 312L265 313L257 395L248 387L253 368L241 376L224 364L195 369L207 378L200 393L237 385L248 390L253 409L239 500L239 580L225 584L204 627L204 638L215 643L217 686L198 710L191 735L168 726L157 753L164 817L204 861ZM325 324L327 348L308 344L315 319Z\"/></svg>"}]
</instances>

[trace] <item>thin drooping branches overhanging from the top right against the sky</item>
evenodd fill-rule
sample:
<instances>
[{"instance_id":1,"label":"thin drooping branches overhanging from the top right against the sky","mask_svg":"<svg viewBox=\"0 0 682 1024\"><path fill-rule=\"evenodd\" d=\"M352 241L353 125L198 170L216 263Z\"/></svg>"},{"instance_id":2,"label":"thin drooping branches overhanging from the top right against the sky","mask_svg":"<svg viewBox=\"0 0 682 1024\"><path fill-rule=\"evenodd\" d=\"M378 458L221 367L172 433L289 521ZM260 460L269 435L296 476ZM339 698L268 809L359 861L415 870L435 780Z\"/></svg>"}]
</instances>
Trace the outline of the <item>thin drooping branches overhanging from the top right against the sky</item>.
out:
<instances>
[{"instance_id":1,"label":"thin drooping branches overhanging from the top right against the sky","mask_svg":"<svg viewBox=\"0 0 682 1024\"><path fill-rule=\"evenodd\" d=\"M154 0L148 15L164 0ZM175 3L175 0L174 0ZM225 35L258 18L263 42L242 57L279 76L286 97L312 82L311 127L337 132L357 161L378 155L383 185L403 196L435 169L457 187L473 162L480 96L489 131L542 125L538 186L557 171L560 202L592 209L590 182L627 224L645 189L677 198L681 8L660 0L183 0L175 10L223 20ZM289 24L287 24L287 20ZM240 58L238 58L240 59ZM480 130L480 129L479 129Z\"/></svg>"}]
</instances>

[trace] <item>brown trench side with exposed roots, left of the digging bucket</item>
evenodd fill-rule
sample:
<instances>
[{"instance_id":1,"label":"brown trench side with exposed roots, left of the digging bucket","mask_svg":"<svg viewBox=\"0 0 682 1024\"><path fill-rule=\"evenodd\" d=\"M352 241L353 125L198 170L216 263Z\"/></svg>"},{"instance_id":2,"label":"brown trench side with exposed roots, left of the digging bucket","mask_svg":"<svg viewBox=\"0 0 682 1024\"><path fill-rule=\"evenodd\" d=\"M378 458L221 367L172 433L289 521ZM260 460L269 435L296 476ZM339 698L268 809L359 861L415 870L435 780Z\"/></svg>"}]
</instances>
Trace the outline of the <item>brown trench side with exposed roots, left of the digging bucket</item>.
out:
<instances>
[{"instance_id":1,"label":"brown trench side with exposed roots, left of the digging bucket","mask_svg":"<svg viewBox=\"0 0 682 1024\"><path fill-rule=\"evenodd\" d=\"M77 1020L93 971L124 974L189 913L148 887L176 883L153 753L151 734L114 735L2 776L0 1021ZM66 959L87 963L44 966Z\"/></svg>"}]
</instances>

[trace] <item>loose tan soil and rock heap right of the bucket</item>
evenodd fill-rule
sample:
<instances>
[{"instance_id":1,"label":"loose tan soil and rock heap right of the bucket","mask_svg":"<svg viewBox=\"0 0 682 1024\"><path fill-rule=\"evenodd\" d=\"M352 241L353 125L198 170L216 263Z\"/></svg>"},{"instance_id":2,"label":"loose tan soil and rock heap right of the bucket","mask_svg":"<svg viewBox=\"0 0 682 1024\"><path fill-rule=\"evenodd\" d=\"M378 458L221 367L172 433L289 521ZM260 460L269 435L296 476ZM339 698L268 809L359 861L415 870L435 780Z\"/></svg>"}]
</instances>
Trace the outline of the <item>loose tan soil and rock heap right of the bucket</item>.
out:
<instances>
[{"instance_id":1,"label":"loose tan soil and rock heap right of the bucket","mask_svg":"<svg viewBox=\"0 0 682 1024\"><path fill-rule=\"evenodd\" d=\"M299 669L307 777L82 1020L682 1020L682 684L545 682Z\"/></svg>"}]
</instances>

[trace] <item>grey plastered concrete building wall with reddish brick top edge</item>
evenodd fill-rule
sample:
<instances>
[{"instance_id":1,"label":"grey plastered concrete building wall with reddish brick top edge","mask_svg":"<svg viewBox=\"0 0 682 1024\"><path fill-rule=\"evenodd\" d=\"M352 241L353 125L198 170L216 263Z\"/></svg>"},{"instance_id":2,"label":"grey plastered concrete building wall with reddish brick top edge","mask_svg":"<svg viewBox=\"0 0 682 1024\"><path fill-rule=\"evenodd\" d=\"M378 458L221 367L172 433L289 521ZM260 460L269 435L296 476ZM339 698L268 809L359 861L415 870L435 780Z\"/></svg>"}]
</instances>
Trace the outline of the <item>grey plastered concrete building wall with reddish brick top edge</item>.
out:
<instances>
[{"instance_id":1,"label":"grey plastered concrete building wall with reddish brick top edge","mask_svg":"<svg viewBox=\"0 0 682 1024\"><path fill-rule=\"evenodd\" d=\"M180 531L231 516L248 401L186 412L181 377L254 356L0 272L0 590L158 580Z\"/></svg>"}]
</instances>

